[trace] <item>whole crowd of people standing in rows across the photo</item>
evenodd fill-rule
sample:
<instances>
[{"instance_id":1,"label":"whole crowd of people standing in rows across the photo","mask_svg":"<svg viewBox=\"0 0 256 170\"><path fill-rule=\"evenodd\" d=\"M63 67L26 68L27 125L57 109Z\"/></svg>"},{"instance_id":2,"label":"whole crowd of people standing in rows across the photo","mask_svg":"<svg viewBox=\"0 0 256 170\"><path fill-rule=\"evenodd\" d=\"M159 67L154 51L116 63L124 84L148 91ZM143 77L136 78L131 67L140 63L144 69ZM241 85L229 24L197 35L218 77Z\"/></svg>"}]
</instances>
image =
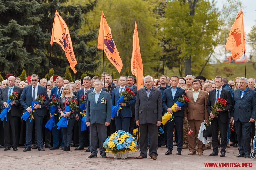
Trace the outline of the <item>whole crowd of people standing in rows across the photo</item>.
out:
<instances>
[{"instance_id":1,"label":"whole crowd of people standing in rows across the photo","mask_svg":"<svg viewBox=\"0 0 256 170\"><path fill-rule=\"evenodd\" d=\"M91 152L88 158L97 156L99 147L102 158L107 158L102 144L107 136L118 130L130 132L139 128L140 155L136 159L149 156L157 159L157 149L166 146L166 155L172 154L173 146L177 146L176 155L181 155L182 149L188 148L188 155L203 155L204 149L213 148L210 156L224 157L227 147L238 147L236 157L250 157L250 143L255 135L256 119L256 84L255 79L237 77L228 81L227 78L216 76L206 80L203 76L187 75L186 77L162 75L160 79L152 76L143 77L144 87L137 90L136 79L133 76L120 76L112 79L107 73L101 77L86 76L81 80L69 82L61 76L52 76L49 80L36 74L21 81L14 75L0 83L0 106L2 110L11 105L6 119L0 122L0 148L5 151L17 150L25 146L25 151L38 149L45 151L62 149L70 151L84 150ZM135 96L128 102L119 102L120 93L132 90ZM7 103L9 95L17 92L16 101ZM38 95L46 100L42 104L32 101ZM185 95L189 102L181 107L173 105ZM49 102L53 97L58 98L57 110L51 113ZM66 111L66 106L72 100L81 105L82 97L86 97L86 109ZM226 100L225 109L216 108L216 116L212 108L218 98ZM119 105L122 109L119 115L111 118L112 106ZM31 117L24 121L22 113L28 111ZM173 120L165 125L161 123L162 116L169 112ZM60 117L68 119L67 127L54 126L52 130L45 128L47 121L54 116L55 124ZM86 130L81 130L82 116L86 116ZM198 140L202 122L211 118L212 142L203 144ZM164 133L158 136L161 127ZM188 134L188 127L193 132ZM43 147L44 146L44 147Z\"/></svg>"}]
</instances>

